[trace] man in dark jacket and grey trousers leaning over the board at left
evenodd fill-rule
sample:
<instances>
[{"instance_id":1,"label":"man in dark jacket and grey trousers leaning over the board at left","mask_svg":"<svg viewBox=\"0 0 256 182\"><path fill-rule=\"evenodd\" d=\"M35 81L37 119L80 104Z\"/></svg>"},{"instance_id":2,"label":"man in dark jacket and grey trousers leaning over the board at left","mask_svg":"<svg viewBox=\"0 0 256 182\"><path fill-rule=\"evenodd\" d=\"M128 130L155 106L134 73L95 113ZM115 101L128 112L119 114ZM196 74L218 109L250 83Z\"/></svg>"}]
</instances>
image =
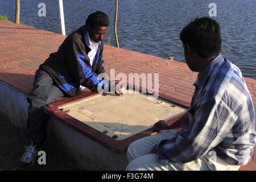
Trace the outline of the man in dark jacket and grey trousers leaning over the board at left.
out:
<instances>
[{"instance_id":1,"label":"man in dark jacket and grey trousers leaning over the board at left","mask_svg":"<svg viewBox=\"0 0 256 182\"><path fill-rule=\"evenodd\" d=\"M48 59L36 71L34 87L28 93L27 101L27 140L20 162L22 166L35 164L36 156L46 138L48 115L44 106L61 98L76 96L80 86L92 92L109 90L115 87L109 81L98 79L105 72L102 60L102 39L109 26L108 16L97 11L86 19L85 26L68 35L58 51L51 53ZM110 86L111 85L111 86ZM122 94L115 89L117 95Z\"/></svg>"}]
</instances>

